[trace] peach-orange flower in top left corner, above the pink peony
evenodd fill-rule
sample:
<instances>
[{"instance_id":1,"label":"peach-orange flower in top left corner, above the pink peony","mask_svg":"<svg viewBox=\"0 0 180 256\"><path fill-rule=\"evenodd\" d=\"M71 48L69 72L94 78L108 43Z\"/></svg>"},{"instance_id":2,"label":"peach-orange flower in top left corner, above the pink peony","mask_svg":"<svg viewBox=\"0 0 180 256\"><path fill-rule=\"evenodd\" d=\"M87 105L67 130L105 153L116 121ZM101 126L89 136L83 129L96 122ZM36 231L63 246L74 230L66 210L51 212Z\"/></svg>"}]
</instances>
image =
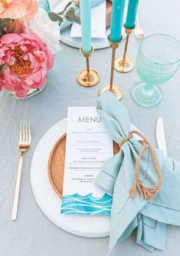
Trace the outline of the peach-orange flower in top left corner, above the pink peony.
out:
<instances>
[{"instance_id":1,"label":"peach-orange flower in top left corner, above the pink peony","mask_svg":"<svg viewBox=\"0 0 180 256\"><path fill-rule=\"evenodd\" d=\"M26 18L29 20L37 12L36 0L0 0L0 18Z\"/></svg>"}]
</instances>

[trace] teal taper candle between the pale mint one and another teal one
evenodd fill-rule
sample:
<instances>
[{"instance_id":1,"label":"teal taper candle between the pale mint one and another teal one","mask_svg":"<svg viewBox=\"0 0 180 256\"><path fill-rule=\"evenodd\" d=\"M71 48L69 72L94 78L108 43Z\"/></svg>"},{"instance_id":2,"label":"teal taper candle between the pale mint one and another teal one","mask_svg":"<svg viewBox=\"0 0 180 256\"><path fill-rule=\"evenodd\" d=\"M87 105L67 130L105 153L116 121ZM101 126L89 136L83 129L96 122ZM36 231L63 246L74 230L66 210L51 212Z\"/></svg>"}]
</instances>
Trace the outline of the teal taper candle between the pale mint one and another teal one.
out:
<instances>
[{"instance_id":1,"label":"teal taper candle between the pale mint one and another teal one","mask_svg":"<svg viewBox=\"0 0 180 256\"><path fill-rule=\"evenodd\" d=\"M110 41L119 42L123 27L125 0L113 0L112 16L110 22Z\"/></svg>"}]
</instances>

